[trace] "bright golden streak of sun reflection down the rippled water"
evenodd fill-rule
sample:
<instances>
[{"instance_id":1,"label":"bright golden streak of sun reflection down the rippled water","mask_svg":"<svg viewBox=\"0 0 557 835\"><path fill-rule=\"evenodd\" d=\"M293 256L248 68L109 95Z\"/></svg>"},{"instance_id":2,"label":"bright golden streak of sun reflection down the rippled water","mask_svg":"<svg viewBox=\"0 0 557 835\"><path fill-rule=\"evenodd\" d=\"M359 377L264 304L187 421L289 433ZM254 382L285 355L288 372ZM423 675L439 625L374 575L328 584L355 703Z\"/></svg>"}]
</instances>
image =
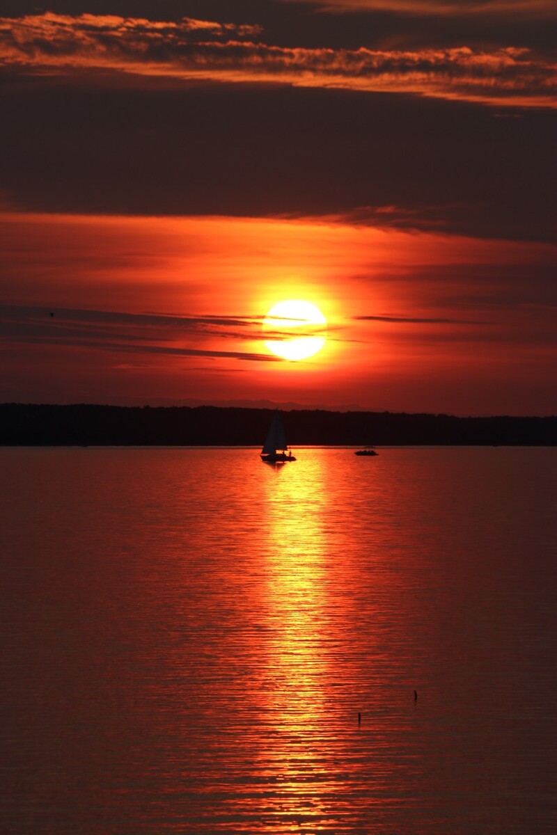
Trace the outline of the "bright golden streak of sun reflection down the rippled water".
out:
<instances>
[{"instance_id":1,"label":"bright golden streak of sun reflection down the rippled water","mask_svg":"<svg viewBox=\"0 0 557 835\"><path fill-rule=\"evenodd\" d=\"M342 793L330 716L335 625L327 557L322 461L276 471L266 493L266 679L260 694L258 767L285 823L319 823L327 795ZM306 469L311 468L311 473ZM311 478L309 477L311 475Z\"/></svg>"}]
</instances>

